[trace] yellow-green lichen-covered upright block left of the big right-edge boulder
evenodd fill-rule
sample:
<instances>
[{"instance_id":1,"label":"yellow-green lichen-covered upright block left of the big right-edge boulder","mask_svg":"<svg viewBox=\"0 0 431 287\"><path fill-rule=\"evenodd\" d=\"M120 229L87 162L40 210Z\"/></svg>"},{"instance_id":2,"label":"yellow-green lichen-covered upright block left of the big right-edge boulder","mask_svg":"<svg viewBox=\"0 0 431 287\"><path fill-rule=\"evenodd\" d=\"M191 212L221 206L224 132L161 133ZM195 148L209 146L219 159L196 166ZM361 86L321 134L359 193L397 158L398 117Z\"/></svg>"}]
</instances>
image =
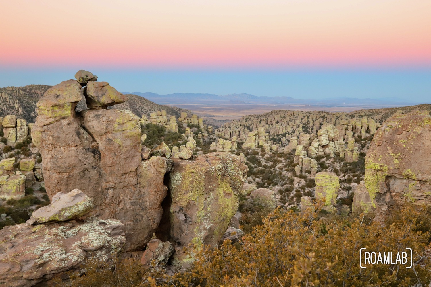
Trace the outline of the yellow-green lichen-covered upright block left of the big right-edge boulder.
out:
<instances>
[{"instance_id":1,"label":"yellow-green lichen-covered upright block left of the big right-edge boulder","mask_svg":"<svg viewBox=\"0 0 431 287\"><path fill-rule=\"evenodd\" d=\"M326 199L325 205L335 205L337 201L337 193L340 188L338 176L327 172L317 173L316 181L316 200Z\"/></svg>"}]
</instances>

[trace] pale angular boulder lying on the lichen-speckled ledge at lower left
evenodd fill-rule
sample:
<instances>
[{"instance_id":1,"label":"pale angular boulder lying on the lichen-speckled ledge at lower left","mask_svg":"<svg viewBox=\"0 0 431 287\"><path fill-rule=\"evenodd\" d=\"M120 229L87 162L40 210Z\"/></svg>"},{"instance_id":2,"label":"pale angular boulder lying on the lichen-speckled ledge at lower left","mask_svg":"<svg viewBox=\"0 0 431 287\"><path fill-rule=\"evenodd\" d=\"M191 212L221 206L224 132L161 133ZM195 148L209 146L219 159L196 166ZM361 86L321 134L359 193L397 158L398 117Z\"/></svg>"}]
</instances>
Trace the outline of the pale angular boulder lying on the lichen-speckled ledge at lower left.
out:
<instances>
[{"instance_id":1,"label":"pale angular boulder lying on the lichen-speckled ledge at lower left","mask_svg":"<svg viewBox=\"0 0 431 287\"><path fill-rule=\"evenodd\" d=\"M93 199L78 188L68 192L59 192L51 199L51 204L35 210L27 223L59 222L79 218L93 208Z\"/></svg>"}]
</instances>

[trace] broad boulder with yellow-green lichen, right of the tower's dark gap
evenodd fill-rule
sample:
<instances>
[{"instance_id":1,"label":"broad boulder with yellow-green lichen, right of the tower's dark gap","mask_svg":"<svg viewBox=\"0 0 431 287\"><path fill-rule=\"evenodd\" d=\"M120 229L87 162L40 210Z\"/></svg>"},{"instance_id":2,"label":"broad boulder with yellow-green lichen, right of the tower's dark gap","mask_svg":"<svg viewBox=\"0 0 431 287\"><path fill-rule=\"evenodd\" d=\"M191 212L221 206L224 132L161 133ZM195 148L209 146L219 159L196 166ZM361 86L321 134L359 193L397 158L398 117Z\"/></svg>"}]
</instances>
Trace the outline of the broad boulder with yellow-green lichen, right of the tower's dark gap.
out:
<instances>
[{"instance_id":1,"label":"broad boulder with yellow-green lichen, right of the tower's dark gap","mask_svg":"<svg viewBox=\"0 0 431 287\"><path fill-rule=\"evenodd\" d=\"M164 217L156 232L157 238L174 245L172 264L187 267L201 244L219 244L237 212L247 171L240 157L226 152L194 161L174 159L169 200L164 201Z\"/></svg>"}]
</instances>

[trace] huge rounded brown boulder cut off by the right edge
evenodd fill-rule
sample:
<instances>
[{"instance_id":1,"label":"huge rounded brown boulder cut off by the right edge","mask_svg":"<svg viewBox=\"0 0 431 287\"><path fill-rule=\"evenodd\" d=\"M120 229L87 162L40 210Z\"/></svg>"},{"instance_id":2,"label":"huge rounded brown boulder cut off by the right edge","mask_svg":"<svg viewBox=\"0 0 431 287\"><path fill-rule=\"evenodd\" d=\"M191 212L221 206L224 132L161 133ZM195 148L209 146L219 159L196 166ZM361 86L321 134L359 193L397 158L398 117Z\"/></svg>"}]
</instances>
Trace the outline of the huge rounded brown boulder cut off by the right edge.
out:
<instances>
[{"instance_id":1,"label":"huge rounded brown boulder cut off by the right edge","mask_svg":"<svg viewBox=\"0 0 431 287\"><path fill-rule=\"evenodd\" d=\"M365 157L365 186L383 221L406 201L431 203L429 112L394 114L377 131Z\"/></svg>"}]
</instances>

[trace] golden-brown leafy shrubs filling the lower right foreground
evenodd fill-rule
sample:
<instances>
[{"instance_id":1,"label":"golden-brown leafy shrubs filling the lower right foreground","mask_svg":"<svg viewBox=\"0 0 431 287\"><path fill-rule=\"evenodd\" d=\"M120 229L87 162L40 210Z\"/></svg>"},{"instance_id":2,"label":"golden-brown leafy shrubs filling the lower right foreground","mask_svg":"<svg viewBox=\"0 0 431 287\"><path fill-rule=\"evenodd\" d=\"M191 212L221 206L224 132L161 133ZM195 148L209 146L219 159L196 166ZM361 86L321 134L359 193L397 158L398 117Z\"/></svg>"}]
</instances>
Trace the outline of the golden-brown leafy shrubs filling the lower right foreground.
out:
<instances>
[{"instance_id":1,"label":"golden-brown leafy shrubs filling the lower right foreground","mask_svg":"<svg viewBox=\"0 0 431 287\"><path fill-rule=\"evenodd\" d=\"M397 215L396 222L388 222L385 227L364 215L358 218L331 216L319 219L316 214L311 210L303 214L275 210L264 220L263 225L245 235L239 244L225 241L216 249L204 247L189 270L172 276L163 275L162 270L151 274L139 273L137 270L141 270L141 267L136 262L134 265L129 262L128 267L121 267L121 272L112 269L108 270L111 275L87 273L86 276L72 279L72 283L73 286L97 287L361 287L429 284L431 265L426 252L430 225L422 220L424 210L406 207ZM413 268L406 269L404 265L360 268L359 250L362 247L369 251L395 253L410 247L414 251ZM118 264L117 269L120 269ZM109 277L112 275L115 275L114 279ZM83 284L82 278L89 277L97 278L98 284ZM104 284L106 280L111 285ZM122 283L116 283L120 281Z\"/></svg>"}]
</instances>

